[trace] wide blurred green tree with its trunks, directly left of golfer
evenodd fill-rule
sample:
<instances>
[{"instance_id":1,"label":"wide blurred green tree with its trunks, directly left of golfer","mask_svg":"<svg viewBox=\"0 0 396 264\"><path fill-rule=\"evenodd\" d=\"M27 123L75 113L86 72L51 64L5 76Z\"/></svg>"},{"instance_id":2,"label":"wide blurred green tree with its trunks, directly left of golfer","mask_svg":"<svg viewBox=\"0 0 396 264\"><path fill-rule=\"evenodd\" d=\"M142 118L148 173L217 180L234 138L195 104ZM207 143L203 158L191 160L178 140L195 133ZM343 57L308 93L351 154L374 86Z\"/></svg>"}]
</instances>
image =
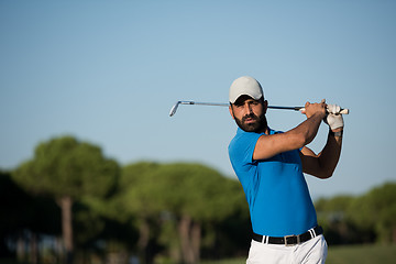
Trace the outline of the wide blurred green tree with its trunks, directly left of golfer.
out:
<instances>
[{"instance_id":1,"label":"wide blurred green tree with its trunks, directly left of golfer","mask_svg":"<svg viewBox=\"0 0 396 264\"><path fill-rule=\"evenodd\" d=\"M210 227L246 207L237 180L188 163L125 166L112 200L113 216L139 229L138 248L144 263L154 262L161 246L173 262L197 263L202 234L206 244L215 243Z\"/></svg>"}]
</instances>

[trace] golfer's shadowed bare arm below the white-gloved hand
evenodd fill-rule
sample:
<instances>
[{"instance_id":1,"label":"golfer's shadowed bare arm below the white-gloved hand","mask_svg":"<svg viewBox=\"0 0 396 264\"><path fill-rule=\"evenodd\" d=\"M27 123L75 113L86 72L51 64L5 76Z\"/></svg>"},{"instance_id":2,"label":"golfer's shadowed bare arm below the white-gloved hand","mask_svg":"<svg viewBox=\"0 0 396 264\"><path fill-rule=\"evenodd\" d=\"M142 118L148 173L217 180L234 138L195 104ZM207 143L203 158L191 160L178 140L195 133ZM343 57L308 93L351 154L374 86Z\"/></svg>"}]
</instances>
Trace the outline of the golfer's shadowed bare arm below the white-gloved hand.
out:
<instances>
[{"instance_id":1,"label":"golfer's shadowed bare arm below the white-gloved hand","mask_svg":"<svg viewBox=\"0 0 396 264\"><path fill-rule=\"evenodd\" d=\"M342 129L333 130L341 132ZM304 173L314 175L318 178L329 178L332 176L341 154L342 136L334 136L329 132L323 150L317 155L310 148L302 147L300 152Z\"/></svg>"}]
</instances>

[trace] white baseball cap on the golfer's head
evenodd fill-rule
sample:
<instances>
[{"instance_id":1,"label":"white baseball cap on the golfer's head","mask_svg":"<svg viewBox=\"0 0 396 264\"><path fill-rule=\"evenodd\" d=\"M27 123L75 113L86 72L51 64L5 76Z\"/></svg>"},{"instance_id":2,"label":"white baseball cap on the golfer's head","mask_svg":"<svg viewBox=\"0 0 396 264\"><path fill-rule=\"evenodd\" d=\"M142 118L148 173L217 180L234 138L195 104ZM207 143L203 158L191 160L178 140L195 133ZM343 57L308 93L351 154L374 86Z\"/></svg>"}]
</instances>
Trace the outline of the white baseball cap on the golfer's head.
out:
<instances>
[{"instance_id":1,"label":"white baseball cap on the golfer's head","mask_svg":"<svg viewBox=\"0 0 396 264\"><path fill-rule=\"evenodd\" d=\"M234 103L240 96L250 96L254 100L264 98L263 88L260 82L250 76L242 76L235 79L230 87L230 102Z\"/></svg>"}]
</instances>

